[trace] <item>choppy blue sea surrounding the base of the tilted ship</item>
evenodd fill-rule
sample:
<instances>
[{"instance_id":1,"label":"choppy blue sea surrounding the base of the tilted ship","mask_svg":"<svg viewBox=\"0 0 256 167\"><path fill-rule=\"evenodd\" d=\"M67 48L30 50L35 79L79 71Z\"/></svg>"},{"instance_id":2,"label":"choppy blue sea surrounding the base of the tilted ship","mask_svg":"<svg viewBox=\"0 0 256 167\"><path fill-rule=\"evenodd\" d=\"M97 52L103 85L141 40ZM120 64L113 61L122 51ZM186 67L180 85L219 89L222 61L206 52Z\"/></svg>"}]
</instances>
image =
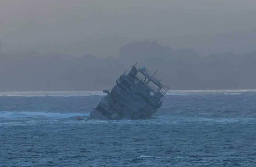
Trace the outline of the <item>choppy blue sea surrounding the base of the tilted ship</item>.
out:
<instances>
[{"instance_id":1,"label":"choppy blue sea surrounding the base of the tilted ship","mask_svg":"<svg viewBox=\"0 0 256 167\"><path fill-rule=\"evenodd\" d=\"M170 91L150 119L76 119L102 95L0 92L0 166L256 166L256 91Z\"/></svg>"}]
</instances>

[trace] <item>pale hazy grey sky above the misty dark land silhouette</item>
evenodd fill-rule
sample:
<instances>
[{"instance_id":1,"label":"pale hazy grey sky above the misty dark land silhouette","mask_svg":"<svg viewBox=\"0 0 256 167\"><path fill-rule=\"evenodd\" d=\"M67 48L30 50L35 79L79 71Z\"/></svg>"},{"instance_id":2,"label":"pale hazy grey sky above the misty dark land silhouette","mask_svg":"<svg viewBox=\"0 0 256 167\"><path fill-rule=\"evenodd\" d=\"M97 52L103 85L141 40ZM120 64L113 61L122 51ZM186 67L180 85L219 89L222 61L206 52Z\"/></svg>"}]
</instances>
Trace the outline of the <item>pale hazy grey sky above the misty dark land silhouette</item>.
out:
<instances>
[{"instance_id":1,"label":"pale hazy grey sky above the misty dark land silhouette","mask_svg":"<svg viewBox=\"0 0 256 167\"><path fill-rule=\"evenodd\" d=\"M2 52L117 56L156 39L202 55L256 50L255 0L1 0Z\"/></svg>"}]
</instances>

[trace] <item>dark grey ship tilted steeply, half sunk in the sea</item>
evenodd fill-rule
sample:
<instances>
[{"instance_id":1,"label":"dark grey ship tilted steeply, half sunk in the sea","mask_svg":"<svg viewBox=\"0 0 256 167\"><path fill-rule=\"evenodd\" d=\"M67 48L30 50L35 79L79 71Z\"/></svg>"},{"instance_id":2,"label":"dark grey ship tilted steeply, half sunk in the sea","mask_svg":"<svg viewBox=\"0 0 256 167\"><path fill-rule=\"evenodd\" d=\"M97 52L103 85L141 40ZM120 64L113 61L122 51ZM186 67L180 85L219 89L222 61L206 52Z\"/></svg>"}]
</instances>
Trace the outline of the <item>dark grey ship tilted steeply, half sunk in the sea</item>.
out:
<instances>
[{"instance_id":1,"label":"dark grey ship tilted steeply, half sunk in the sea","mask_svg":"<svg viewBox=\"0 0 256 167\"><path fill-rule=\"evenodd\" d=\"M151 74L145 67L137 68L136 65L116 80L111 92L103 91L107 95L91 111L88 119L145 119L157 112L169 87L154 77L157 70Z\"/></svg>"}]
</instances>

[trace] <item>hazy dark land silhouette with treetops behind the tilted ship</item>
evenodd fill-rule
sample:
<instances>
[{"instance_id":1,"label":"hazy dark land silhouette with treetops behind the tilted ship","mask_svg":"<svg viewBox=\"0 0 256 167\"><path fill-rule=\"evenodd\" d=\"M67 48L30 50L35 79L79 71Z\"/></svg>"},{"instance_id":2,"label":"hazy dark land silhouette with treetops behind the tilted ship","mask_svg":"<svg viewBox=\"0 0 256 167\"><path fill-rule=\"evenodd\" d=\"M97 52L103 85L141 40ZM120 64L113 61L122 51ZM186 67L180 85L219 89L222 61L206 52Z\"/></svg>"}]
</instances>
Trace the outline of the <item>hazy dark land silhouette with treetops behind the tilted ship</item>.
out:
<instances>
[{"instance_id":1,"label":"hazy dark land silhouette with treetops behind the tilted ship","mask_svg":"<svg viewBox=\"0 0 256 167\"><path fill-rule=\"evenodd\" d=\"M151 71L159 69L156 75L172 90L256 88L256 52L202 57L190 49L134 41L118 57L0 54L0 91L110 89L136 61Z\"/></svg>"}]
</instances>

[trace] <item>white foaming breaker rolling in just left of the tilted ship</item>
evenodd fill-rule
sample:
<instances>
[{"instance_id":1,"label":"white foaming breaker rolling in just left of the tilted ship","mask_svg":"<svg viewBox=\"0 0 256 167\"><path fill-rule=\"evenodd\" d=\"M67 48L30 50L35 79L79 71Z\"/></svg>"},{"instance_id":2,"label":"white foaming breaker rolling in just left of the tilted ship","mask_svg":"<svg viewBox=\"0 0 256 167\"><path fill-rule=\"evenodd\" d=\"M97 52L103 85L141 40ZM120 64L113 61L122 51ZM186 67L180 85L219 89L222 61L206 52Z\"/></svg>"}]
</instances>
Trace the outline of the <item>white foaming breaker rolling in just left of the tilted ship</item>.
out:
<instances>
[{"instance_id":1,"label":"white foaming breaker rolling in just left of the tilted ship","mask_svg":"<svg viewBox=\"0 0 256 167\"><path fill-rule=\"evenodd\" d=\"M18 118L18 117L52 117L52 118L69 118L69 117L87 117L89 113L59 113L59 112L9 112L0 111L0 118Z\"/></svg>"}]
</instances>

